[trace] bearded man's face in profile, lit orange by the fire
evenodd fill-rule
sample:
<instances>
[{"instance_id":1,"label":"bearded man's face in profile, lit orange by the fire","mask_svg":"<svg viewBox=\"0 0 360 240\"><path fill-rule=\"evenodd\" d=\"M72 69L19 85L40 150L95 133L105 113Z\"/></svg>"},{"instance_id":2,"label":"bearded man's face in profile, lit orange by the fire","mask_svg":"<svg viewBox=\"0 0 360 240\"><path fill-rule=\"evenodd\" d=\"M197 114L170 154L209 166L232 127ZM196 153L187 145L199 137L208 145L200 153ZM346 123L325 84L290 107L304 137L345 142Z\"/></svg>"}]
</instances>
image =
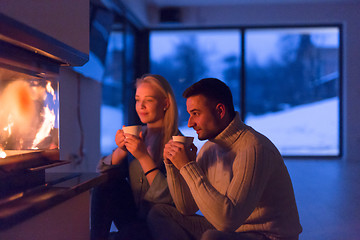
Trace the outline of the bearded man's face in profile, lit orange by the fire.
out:
<instances>
[{"instance_id":1,"label":"bearded man's face in profile, lit orange by the fire","mask_svg":"<svg viewBox=\"0 0 360 240\"><path fill-rule=\"evenodd\" d=\"M199 140L211 139L220 133L220 118L214 103L203 95L195 95L186 100L186 107L190 114L188 127L196 131Z\"/></svg>"}]
</instances>

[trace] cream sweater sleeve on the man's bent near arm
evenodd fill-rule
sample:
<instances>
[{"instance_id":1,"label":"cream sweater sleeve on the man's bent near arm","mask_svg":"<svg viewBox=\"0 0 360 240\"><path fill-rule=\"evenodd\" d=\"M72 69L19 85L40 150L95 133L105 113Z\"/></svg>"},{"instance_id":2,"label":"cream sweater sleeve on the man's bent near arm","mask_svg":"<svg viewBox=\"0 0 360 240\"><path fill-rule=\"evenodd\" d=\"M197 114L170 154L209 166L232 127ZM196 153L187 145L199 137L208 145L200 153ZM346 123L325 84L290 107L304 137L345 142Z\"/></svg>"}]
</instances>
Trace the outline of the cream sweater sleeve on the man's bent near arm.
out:
<instances>
[{"instance_id":1,"label":"cream sweater sleeve on the man's bent near arm","mask_svg":"<svg viewBox=\"0 0 360 240\"><path fill-rule=\"evenodd\" d=\"M235 231L254 211L269 179L270 166L265 155L259 146L237 152L232 164L233 177L228 186L223 186L225 194L210 183L198 162L181 169L195 202L216 229Z\"/></svg>"}]
</instances>

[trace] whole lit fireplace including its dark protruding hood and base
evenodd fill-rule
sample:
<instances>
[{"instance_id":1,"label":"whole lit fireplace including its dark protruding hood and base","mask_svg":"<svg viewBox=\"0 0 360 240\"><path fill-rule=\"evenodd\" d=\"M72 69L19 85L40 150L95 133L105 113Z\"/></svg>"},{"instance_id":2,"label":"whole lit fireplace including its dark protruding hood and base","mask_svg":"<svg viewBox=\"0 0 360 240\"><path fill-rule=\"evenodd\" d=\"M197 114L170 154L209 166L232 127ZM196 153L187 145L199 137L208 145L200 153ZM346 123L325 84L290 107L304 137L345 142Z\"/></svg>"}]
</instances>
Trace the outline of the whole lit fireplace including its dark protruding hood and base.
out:
<instances>
[{"instance_id":1,"label":"whole lit fireplace including its dark protruding hood and base","mask_svg":"<svg viewBox=\"0 0 360 240\"><path fill-rule=\"evenodd\" d=\"M59 69L88 56L0 13L0 203L44 184L59 159Z\"/></svg>"}]
</instances>

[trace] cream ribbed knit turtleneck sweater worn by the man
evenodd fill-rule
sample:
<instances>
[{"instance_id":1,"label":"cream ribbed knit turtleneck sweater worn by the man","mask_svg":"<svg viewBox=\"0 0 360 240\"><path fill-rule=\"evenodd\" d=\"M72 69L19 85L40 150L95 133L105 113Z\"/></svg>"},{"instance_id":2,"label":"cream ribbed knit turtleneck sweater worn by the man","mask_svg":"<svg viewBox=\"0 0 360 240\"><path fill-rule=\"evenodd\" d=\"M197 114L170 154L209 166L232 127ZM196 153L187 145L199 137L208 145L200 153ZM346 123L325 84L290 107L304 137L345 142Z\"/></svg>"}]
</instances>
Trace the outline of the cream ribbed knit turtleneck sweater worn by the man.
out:
<instances>
[{"instance_id":1,"label":"cream ribbed knit turtleneck sweater worn by the man","mask_svg":"<svg viewBox=\"0 0 360 240\"><path fill-rule=\"evenodd\" d=\"M298 239L290 176L277 148L236 114L229 126L178 171L166 164L177 209L198 209L220 231L257 231L270 239Z\"/></svg>"}]
</instances>

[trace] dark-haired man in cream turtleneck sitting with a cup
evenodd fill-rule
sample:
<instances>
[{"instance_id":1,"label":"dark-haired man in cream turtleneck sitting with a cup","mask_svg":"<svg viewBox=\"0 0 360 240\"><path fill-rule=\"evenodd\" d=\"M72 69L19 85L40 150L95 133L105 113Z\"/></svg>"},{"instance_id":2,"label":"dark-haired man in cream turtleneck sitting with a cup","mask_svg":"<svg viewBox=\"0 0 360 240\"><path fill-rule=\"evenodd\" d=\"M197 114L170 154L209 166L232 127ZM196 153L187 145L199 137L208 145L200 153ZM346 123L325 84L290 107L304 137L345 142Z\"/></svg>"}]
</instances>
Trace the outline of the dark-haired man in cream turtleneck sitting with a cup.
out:
<instances>
[{"instance_id":1,"label":"dark-haired man in cream turtleneck sitting with a cup","mask_svg":"<svg viewBox=\"0 0 360 240\"><path fill-rule=\"evenodd\" d=\"M155 239L298 239L302 231L290 176L277 148L245 125L231 91L206 78L185 90L194 145L169 141L164 159L176 209L157 205L148 223ZM196 158L196 160L195 160ZM204 215L195 213L200 209Z\"/></svg>"}]
</instances>

